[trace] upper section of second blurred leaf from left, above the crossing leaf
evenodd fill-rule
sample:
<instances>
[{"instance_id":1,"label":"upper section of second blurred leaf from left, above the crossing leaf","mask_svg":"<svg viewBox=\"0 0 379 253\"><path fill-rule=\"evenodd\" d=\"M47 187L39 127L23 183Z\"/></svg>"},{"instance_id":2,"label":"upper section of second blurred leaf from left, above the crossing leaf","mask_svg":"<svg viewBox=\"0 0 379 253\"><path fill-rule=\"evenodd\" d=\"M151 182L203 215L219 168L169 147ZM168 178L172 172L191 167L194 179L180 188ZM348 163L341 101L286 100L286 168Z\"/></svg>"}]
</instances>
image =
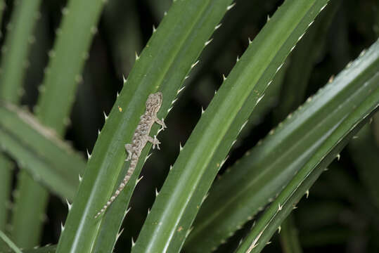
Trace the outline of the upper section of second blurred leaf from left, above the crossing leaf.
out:
<instances>
[{"instance_id":1,"label":"upper section of second blurred leaf from left, above the crossing leaf","mask_svg":"<svg viewBox=\"0 0 379 253\"><path fill-rule=\"evenodd\" d=\"M58 134L62 134L68 124L77 84L82 82L82 69L89 57L89 46L97 32L96 24L104 3L103 0L70 0L62 9L63 19L49 52L49 65L34 109L41 122Z\"/></svg>"}]
</instances>

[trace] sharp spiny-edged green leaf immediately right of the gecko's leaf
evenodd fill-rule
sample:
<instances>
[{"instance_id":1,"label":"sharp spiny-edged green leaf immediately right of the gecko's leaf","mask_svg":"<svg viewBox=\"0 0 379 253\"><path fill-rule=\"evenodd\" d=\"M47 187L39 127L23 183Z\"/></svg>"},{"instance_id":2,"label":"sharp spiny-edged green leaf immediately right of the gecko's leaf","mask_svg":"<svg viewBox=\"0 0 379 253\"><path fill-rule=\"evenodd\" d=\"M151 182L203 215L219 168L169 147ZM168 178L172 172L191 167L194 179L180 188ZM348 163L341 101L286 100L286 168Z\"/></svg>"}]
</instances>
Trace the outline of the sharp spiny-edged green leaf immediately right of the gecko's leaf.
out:
<instances>
[{"instance_id":1,"label":"sharp spiny-edged green leaf immediately right of the gecko's leaf","mask_svg":"<svg viewBox=\"0 0 379 253\"><path fill-rule=\"evenodd\" d=\"M326 3L285 1L255 37L181 150L132 252L179 251L240 129Z\"/></svg>"}]
</instances>

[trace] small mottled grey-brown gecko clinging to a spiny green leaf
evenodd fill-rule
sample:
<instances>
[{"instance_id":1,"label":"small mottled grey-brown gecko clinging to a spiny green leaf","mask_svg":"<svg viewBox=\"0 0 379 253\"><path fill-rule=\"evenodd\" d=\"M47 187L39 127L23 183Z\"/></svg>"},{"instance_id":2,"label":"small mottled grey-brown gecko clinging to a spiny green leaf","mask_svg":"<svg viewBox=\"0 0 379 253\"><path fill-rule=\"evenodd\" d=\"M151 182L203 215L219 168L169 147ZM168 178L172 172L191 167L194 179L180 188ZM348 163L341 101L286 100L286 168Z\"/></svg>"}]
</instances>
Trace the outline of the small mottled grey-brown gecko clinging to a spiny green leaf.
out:
<instances>
[{"instance_id":1,"label":"small mottled grey-brown gecko clinging to a spiny green leaf","mask_svg":"<svg viewBox=\"0 0 379 253\"><path fill-rule=\"evenodd\" d=\"M141 115L141 120L139 121L136 131L134 131L133 138L131 138L131 143L125 144L125 150L128 154L125 161L130 160L127 175L124 177L122 183L120 183L120 186L117 188L113 196L110 197L108 202L96 214L95 219L100 214L103 214L103 212L105 212L105 210L112 204L115 198L120 195L121 191L124 189L131 175L133 174L134 169L136 169L137 162L139 161L139 156L141 155L141 152L146 143L153 143L153 149L155 148L155 145L157 146L158 150L160 149L160 141L158 141L157 137L154 136L153 138L148 134L154 123L160 124L160 126L162 126L162 130L167 128L165 122L163 122L163 119L158 119L157 117L157 112L160 110L161 105L162 92L158 91L157 93L153 93L148 96L148 100L146 100L146 112Z\"/></svg>"}]
</instances>

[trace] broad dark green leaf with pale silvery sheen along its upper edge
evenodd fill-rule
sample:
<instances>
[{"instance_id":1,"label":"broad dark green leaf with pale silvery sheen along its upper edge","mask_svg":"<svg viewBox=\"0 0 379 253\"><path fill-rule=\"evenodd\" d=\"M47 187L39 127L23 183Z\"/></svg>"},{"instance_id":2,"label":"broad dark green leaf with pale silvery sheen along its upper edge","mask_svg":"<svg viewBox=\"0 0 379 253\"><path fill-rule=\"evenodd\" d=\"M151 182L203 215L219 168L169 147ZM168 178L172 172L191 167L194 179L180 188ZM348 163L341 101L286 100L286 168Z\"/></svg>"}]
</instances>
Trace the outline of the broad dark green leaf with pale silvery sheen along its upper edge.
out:
<instances>
[{"instance_id":1,"label":"broad dark green leaf with pale silvery sheen along its upper edge","mask_svg":"<svg viewBox=\"0 0 379 253\"><path fill-rule=\"evenodd\" d=\"M217 247L274 200L341 120L375 88L375 83L364 86L378 71L378 59L371 52L375 52L375 46L288 115L214 183L186 249L206 252Z\"/></svg>"}]
</instances>

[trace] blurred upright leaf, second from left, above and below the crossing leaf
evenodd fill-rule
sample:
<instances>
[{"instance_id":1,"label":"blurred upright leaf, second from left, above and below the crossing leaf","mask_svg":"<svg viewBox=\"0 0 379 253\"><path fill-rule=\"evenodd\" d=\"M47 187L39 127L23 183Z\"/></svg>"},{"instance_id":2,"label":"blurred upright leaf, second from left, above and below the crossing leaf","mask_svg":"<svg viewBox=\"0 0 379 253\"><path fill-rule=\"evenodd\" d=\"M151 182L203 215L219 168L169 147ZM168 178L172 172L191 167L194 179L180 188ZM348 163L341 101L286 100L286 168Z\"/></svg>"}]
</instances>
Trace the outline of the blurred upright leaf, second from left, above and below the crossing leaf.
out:
<instances>
[{"instance_id":1,"label":"blurred upright leaf, second from left, above and below the crossing leaf","mask_svg":"<svg viewBox=\"0 0 379 253\"><path fill-rule=\"evenodd\" d=\"M59 136L63 135L65 126L69 123L68 117L77 84L82 82L82 68L86 58L89 57L89 46L92 37L96 34L96 24L104 3L103 0L70 0L68 6L62 10L61 25L56 30L55 44L49 52L49 64L45 70L44 81L39 86L40 96L34 108L40 122L54 129ZM18 181L17 186L20 189L18 191L20 197L15 202L17 212L13 215L13 228L18 232L17 235L13 235L13 238L20 236L27 239L30 238L27 235L31 231L25 227L32 228L34 234L41 231L41 218L45 214L49 194L38 183L34 183L29 175L22 174L19 177L22 180ZM76 188L72 190L75 191ZM34 194L30 195L30 193ZM33 200L34 205L28 205L28 202L33 202ZM28 207L27 216L25 216L25 206ZM27 217L30 219L26 219ZM23 219L23 224L18 223ZM23 226L16 228L15 223ZM32 247L37 242L28 240L20 245Z\"/></svg>"}]
</instances>

